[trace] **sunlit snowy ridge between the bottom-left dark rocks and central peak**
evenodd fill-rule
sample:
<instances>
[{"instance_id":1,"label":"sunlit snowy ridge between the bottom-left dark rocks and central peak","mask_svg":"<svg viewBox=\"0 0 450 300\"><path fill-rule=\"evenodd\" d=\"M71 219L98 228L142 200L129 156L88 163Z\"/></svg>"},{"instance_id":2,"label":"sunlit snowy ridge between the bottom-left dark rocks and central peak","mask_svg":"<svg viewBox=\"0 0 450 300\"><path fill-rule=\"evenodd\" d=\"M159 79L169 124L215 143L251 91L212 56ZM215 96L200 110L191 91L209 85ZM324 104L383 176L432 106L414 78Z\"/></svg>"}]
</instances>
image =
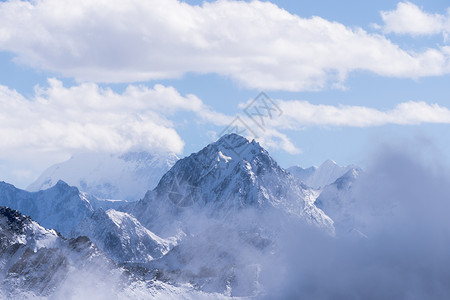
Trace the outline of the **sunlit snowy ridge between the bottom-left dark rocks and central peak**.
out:
<instances>
[{"instance_id":1,"label":"sunlit snowy ridge between the bottom-left dark rocks and central peak","mask_svg":"<svg viewBox=\"0 0 450 300\"><path fill-rule=\"evenodd\" d=\"M72 236L88 236L102 251L118 263L146 263L162 257L175 244L164 240L133 216L113 209L98 209L84 219Z\"/></svg>"}]
</instances>

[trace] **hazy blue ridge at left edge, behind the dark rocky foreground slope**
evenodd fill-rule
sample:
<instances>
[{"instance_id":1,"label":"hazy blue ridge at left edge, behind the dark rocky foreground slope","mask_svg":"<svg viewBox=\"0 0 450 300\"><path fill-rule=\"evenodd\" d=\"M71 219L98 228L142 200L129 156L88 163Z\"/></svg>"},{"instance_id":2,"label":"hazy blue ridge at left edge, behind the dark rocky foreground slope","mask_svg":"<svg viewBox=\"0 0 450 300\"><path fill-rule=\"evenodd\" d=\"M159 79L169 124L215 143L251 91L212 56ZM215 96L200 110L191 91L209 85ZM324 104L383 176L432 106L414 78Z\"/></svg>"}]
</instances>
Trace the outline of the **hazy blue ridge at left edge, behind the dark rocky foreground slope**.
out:
<instances>
[{"instance_id":1,"label":"hazy blue ridge at left edge, behind the dark rocky foreground slope","mask_svg":"<svg viewBox=\"0 0 450 300\"><path fill-rule=\"evenodd\" d=\"M84 218L92 215L95 209L117 208L124 204L124 201L97 199L63 181L39 192L27 192L0 182L1 206L17 209L46 228L58 230L64 236L68 236L71 230Z\"/></svg>"}]
</instances>

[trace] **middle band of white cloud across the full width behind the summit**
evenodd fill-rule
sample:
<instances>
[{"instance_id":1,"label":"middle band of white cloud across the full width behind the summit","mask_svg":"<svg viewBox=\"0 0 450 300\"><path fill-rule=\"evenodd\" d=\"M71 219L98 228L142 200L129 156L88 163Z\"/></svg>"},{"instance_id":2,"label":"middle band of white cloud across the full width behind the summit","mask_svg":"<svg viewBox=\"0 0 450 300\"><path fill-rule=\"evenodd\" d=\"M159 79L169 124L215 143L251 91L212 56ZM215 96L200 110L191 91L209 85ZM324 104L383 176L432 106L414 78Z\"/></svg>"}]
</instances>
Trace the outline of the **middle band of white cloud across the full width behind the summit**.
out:
<instances>
[{"instance_id":1,"label":"middle band of white cloud across the full width behind the summit","mask_svg":"<svg viewBox=\"0 0 450 300\"><path fill-rule=\"evenodd\" d=\"M404 102L388 111L307 101L276 102L282 113L272 118L265 115L263 128L254 123L259 116L250 118L243 111L238 115L253 132L247 133L249 138L258 137L264 147L291 154L301 150L285 130L450 123L449 108L426 102ZM177 132L180 116L190 123L212 125L217 133L235 120L233 115L214 111L195 95L183 96L160 84L153 88L129 85L118 93L95 83L65 87L61 81L49 79L47 87L36 87L35 95L29 98L0 86L0 107L0 139L7 141L0 145L4 157L29 149L36 153L145 150L180 154L184 147ZM263 108L259 111L264 115Z\"/></svg>"}]
</instances>

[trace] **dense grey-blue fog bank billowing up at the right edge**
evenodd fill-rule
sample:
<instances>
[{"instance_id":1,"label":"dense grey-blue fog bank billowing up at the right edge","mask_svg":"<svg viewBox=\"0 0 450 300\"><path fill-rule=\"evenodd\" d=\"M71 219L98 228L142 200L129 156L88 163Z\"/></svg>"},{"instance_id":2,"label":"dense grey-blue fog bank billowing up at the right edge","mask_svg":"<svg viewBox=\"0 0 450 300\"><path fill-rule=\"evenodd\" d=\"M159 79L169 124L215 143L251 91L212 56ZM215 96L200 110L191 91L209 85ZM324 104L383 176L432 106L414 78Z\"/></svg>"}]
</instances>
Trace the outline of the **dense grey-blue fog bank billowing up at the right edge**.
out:
<instances>
[{"instance_id":1,"label":"dense grey-blue fog bank billowing up at the right edge","mask_svg":"<svg viewBox=\"0 0 450 300\"><path fill-rule=\"evenodd\" d=\"M449 167L424 140L383 144L349 197L354 228L293 225L263 268L272 299L450 299Z\"/></svg>"}]
</instances>

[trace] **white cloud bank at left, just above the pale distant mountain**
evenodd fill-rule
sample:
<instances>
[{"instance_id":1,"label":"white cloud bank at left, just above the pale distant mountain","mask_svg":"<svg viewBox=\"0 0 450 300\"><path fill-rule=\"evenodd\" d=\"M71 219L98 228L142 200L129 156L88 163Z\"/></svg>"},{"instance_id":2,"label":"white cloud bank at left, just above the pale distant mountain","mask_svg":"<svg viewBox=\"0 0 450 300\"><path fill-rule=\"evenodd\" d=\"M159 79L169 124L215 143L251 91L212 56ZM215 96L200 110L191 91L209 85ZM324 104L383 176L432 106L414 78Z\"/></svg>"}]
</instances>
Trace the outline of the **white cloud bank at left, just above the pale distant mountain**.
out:
<instances>
[{"instance_id":1,"label":"white cloud bank at left, just above the pale distant mountain","mask_svg":"<svg viewBox=\"0 0 450 300\"><path fill-rule=\"evenodd\" d=\"M55 79L32 99L0 86L0 152L152 150L180 153L184 142L164 114L195 107L170 87L130 86L123 94L96 84L66 88Z\"/></svg>"}]
</instances>

